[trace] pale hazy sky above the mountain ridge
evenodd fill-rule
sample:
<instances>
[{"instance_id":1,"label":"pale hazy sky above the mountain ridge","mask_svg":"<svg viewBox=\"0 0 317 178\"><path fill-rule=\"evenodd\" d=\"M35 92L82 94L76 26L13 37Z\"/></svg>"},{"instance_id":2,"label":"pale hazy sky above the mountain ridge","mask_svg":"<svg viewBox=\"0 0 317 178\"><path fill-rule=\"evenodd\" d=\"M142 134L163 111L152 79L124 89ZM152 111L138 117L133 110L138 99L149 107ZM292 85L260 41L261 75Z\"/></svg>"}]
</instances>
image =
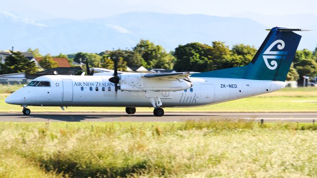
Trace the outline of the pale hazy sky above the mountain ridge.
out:
<instances>
[{"instance_id":1,"label":"pale hazy sky above the mountain ridge","mask_svg":"<svg viewBox=\"0 0 317 178\"><path fill-rule=\"evenodd\" d=\"M315 14L317 0L1 0L0 11L34 19L106 17L134 11L235 16Z\"/></svg>"}]
</instances>

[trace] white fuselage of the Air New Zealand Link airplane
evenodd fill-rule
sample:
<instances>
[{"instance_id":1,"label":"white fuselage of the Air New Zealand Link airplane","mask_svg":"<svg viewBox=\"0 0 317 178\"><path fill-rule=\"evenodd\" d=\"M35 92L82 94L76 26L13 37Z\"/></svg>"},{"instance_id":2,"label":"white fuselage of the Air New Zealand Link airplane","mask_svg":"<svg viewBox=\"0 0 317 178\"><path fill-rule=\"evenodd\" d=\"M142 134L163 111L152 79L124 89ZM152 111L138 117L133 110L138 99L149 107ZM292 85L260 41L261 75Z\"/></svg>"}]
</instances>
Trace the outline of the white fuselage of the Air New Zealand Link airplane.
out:
<instances>
[{"instance_id":1,"label":"white fuselage of the Air New Zealand Link airplane","mask_svg":"<svg viewBox=\"0 0 317 178\"><path fill-rule=\"evenodd\" d=\"M50 87L25 86L5 99L25 106L123 106L153 107L148 91L115 91L112 76L42 76ZM180 91L159 91L161 107L191 107L272 92L284 82L231 78L191 78L193 87ZM149 91L155 92L155 91ZM158 92L156 92L158 94Z\"/></svg>"}]
</instances>

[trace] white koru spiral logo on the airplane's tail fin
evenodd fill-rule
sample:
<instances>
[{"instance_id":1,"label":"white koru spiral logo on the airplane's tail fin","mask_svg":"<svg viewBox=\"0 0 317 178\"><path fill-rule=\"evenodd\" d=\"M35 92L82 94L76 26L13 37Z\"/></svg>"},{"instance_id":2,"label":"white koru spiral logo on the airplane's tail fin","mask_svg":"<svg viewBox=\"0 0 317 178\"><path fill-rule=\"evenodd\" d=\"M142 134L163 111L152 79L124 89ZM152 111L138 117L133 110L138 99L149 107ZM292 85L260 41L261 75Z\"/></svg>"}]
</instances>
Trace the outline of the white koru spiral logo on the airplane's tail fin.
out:
<instances>
[{"instance_id":1,"label":"white koru spiral logo on the airplane's tail fin","mask_svg":"<svg viewBox=\"0 0 317 178\"><path fill-rule=\"evenodd\" d=\"M285 43L283 40L276 40L271 45L268 46L268 48L263 53L263 59L265 62L265 65L268 69L274 70L277 68L277 62L276 60L272 60L270 63L268 63L267 59L282 59L283 55L287 54L287 51L271 51L271 49L276 45L279 50L284 49ZM284 56L286 57L286 56Z\"/></svg>"}]
</instances>

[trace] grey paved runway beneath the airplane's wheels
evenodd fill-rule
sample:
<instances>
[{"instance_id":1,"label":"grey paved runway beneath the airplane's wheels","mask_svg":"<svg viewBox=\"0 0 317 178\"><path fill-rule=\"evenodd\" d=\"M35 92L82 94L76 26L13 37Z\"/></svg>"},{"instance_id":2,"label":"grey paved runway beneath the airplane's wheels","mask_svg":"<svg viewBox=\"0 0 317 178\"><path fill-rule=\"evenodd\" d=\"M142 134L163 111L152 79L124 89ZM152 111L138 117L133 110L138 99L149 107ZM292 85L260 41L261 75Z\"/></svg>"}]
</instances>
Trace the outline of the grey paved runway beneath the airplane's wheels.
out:
<instances>
[{"instance_id":1,"label":"grey paved runway beneath the airplane's wheels","mask_svg":"<svg viewBox=\"0 0 317 178\"><path fill-rule=\"evenodd\" d=\"M260 122L300 122L312 123L316 113L308 112L270 112L270 113L214 113L214 112L166 112L163 117L155 117L152 112L139 112L128 115L124 112L32 112L0 113L0 122L183 122L186 120L253 120Z\"/></svg>"}]
</instances>

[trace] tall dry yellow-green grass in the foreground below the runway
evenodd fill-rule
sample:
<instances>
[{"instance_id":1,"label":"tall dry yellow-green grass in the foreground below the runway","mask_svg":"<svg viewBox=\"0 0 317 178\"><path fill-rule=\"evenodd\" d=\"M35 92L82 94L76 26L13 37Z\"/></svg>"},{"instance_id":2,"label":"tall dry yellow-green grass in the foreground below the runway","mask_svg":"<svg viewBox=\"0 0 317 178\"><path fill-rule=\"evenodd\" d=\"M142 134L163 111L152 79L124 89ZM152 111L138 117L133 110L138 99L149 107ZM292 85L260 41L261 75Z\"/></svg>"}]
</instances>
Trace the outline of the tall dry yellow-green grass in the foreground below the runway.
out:
<instances>
[{"instance_id":1,"label":"tall dry yellow-green grass in the foreground below the runway","mask_svg":"<svg viewBox=\"0 0 317 178\"><path fill-rule=\"evenodd\" d=\"M317 127L0 123L0 177L317 177Z\"/></svg>"}]
</instances>

